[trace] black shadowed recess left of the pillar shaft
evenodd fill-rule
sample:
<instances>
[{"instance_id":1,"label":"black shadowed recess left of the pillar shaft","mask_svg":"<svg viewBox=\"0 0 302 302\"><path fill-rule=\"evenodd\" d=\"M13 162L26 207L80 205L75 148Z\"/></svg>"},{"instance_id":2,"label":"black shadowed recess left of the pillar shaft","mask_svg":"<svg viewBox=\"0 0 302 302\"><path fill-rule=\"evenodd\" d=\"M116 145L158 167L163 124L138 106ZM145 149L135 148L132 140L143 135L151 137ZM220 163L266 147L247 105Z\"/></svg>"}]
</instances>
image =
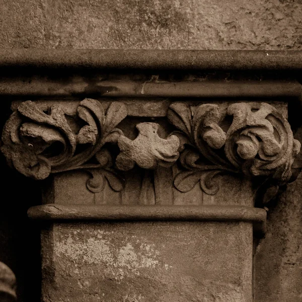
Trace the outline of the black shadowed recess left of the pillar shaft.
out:
<instances>
[{"instance_id":1,"label":"black shadowed recess left of the pillar shaft","mask_svg":"<svg viewBox=\"0 0 302 302\"><path fill-rule=\"evenodd\" d=\"M11 114L9 102L2 102L0 128ZM41 203L40 183L10 169L0 155L2 208L0 211L0 261L17 278L18 302L40 301L40 230L27 217L30 206Z\"/></svg>"}]
</instances>

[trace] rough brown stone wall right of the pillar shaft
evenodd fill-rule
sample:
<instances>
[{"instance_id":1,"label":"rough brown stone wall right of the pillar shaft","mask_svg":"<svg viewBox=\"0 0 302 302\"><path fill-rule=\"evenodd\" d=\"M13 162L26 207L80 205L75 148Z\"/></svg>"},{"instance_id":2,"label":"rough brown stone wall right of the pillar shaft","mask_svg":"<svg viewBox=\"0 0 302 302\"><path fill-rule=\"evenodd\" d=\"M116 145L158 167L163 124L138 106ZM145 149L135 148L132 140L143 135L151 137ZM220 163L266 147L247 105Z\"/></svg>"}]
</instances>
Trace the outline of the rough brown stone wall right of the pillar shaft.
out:
<instances>
[{"instance_id":1,"label":"rough brown stone wall right of the pillar shaft","mask_svg":"<svg viewBox=\"0 0 302 302\"><path fill-rule=\"evenodd\" d=\"M302 301L302 175L268 212L255 254L255 302Z\"/></svg>"}]
</instances>

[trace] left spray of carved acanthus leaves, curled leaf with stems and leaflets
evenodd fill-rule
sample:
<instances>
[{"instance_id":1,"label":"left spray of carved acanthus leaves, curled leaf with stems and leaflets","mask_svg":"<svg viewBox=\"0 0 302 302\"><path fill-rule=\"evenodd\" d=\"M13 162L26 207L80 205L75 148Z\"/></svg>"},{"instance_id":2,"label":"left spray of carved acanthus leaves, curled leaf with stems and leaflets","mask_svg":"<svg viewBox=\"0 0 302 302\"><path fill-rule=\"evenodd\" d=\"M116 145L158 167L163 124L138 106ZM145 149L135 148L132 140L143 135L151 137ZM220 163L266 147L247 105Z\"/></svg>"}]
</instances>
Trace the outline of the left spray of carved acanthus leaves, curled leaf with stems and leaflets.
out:
<instances>
[{"instance_id":1,"label":"left spray of carved acanthus leaves, curled leaf with stems and leaflets","mask_svg":"<svg viewBox=\"0 0 302 302\"><path fill-rule=\"evenodd\" d=\"M110 168L113 161L103 147L107 142L116 142L122 135L122 131L115 127L127 116L126 106L113 102L105 115L100 102L85 99L77 108L77 116L86 125L75 133L60 106L53 105L44 112L35 102L21 103L3 131L1 150L8 163L25 176L37 180L45 179L50 173L100 168L102 173L99 174L106 177L110 186L121 190L124 186L122 177ZM79 145L85 147L78 152ZM93 157L97 164L89 163ZM116 184L119 180L120 184ZM91 179L89 183L93 183ZM102 185L98 190L100 187Z\"/></svg>"}]
</instances>

